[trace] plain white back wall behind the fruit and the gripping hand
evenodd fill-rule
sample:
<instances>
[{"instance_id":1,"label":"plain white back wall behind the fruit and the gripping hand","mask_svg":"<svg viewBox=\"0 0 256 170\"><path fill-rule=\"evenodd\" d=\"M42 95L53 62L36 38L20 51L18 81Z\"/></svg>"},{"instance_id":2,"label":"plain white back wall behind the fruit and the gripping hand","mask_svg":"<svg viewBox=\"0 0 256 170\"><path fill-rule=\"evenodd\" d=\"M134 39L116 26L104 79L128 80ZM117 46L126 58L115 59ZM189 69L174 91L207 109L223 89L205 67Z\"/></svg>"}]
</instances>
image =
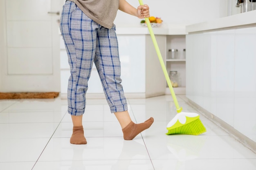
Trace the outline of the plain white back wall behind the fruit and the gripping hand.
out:
<instances>
[{"instance_id":1,"label":"plain white back wall behind the fruit and the gripping hand","mask_svg":"<svg viewBox=\"0 0 256 170\"><path fill-rule=\"evenodd\" d=\"M127 0L132 6L139 6L138 0ZM228 15L229 0L143 0L150 7L150 15L162 18L164 24L190 25ZM234 6L236 3L233 4ZM141 19L122 11L117 13L115 24L135 25Z\"/></svg>"}]
</instances>

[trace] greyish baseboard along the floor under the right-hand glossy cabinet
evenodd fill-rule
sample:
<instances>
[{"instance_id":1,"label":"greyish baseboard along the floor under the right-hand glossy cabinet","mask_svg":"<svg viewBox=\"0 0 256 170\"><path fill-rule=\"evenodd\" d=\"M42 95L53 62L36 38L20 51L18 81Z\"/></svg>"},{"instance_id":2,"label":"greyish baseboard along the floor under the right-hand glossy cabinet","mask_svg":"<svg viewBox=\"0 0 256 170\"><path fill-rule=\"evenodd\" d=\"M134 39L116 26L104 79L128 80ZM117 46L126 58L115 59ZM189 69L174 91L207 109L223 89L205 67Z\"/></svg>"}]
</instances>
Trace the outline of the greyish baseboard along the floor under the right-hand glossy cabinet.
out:
<instances>
[{"instance_id":1,"label":"greyish baseboard along the floor under the right-hand glossy cabinet","mask_svg":"<svg viewBox=\"0 0 256 170\"><path fill-rule=\"evenodd\" d=\"M213 123L215 123L217 126L225 130L227 133L229 133L234 139L239 141L241 144L243 144L246 148L249 148L252 150L252 152L256 153L256 142L250 139L249 137L243 135L241 132L236 130L234 127L227 124L222 119L216 117L209 111L205 110L195 102L191 101L190 99L187 99L187 102L190 106L198 110L199 113L207 117L209 120L211 120Z\"/></svg>"}]
</instances>

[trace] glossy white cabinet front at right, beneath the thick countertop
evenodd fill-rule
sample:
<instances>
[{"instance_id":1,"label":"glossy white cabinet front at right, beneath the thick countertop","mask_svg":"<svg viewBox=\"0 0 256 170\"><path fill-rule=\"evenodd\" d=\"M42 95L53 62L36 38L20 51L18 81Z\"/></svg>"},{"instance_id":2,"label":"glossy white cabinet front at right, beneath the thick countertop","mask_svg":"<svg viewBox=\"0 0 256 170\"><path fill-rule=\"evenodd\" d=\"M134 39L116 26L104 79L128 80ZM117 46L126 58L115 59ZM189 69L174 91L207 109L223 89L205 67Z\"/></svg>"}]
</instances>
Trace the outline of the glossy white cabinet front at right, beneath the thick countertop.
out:
<instances>
[{"instance_id":1,"label":"glossy white cabinet front at right, beneath the thick countertop","mask_svg":"<svg viewBox=\"0 0 256 170\"><path fill-rule=\"evenodd\" d=\"M255 44L256 27L186 35L186 97L252 141L256 141Z\"/></svg>"}]
</instances>

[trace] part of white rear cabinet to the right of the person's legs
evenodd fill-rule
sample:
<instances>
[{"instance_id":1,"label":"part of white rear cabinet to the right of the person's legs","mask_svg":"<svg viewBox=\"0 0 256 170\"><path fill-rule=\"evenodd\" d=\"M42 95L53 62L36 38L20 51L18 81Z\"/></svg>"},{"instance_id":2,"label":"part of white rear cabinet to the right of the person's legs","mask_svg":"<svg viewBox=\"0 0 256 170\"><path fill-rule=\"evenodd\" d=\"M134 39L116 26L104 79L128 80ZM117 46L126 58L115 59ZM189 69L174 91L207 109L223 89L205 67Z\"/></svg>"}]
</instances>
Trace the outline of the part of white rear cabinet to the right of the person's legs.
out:
<instances>
[{"instance_id":1,"label":"part of white rear cabinet to the right of the person's legs","mask_svg":"<svg viewBox=\"0 0 256 170\"><path fill-rule=\"evenodd\" d=\"M166 36L155 35L161 53ZM122 85L127 97L153 97L165 94L165 79L150 35L117 35Z\"/></svg>"}]
</instances>

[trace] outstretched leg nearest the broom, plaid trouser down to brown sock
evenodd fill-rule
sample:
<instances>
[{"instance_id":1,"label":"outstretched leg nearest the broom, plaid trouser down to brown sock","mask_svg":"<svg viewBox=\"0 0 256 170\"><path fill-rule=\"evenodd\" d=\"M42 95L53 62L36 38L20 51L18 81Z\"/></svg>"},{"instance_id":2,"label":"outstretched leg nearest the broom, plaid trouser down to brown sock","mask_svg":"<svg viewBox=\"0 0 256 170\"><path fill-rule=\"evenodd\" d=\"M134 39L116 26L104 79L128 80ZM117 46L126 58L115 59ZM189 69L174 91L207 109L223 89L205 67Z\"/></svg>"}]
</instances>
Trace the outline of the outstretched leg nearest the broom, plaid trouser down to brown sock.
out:
<instances>
[{"instance_id":1,"label":"outstretched leg nearest the broom, plaid trouser down to brown sock","mask_svg":"<svg viewBox=\"0 0 256 170\"><path fill-rule=\"evenodd\" d=\"M132 122L121 85L121 66L115 26L112 29L102 27L97 33L94 63L99 72L110 111L117 117L124 133L124 139L131 140L140 132L149 128L154 119L151 117L141 124Z\"/></svg>"}]
</instances>

